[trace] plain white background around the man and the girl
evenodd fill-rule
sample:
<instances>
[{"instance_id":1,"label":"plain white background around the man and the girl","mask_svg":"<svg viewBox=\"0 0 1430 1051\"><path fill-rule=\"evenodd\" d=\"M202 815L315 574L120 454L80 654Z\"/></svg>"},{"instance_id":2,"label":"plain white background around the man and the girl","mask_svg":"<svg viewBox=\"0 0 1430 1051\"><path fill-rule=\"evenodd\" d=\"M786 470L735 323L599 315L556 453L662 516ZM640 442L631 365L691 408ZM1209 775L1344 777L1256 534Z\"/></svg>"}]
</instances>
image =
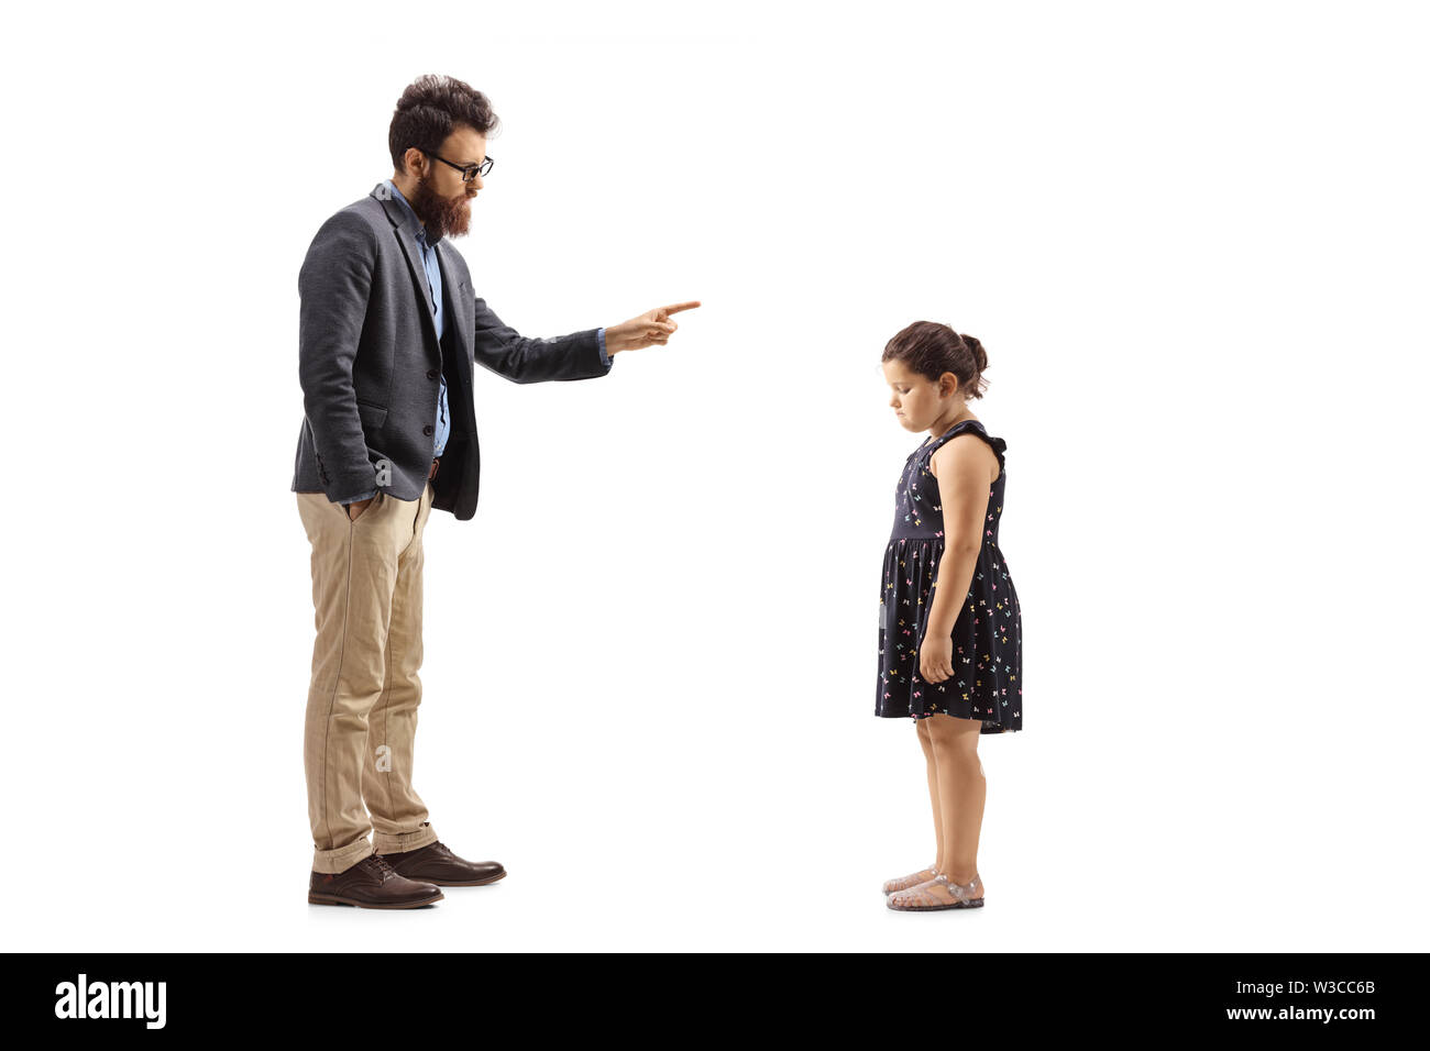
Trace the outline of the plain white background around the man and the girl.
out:
<instances>
[{"instance_id":1,"label":"plain white background around the man and the girl","mask_svg":"<svg viewBox=\"0 0 1430 1051\"><path fill-rule=\"evenodd\" d=\"M1424 949L1424 33L1410 4L30 7L3 47L6 945ZM426 532L436 908L309 907L297 267L449 73L456 246L606 379L479 370ZM921 435L978 336L1024 732L980 912L872 716Z\"/></svg>"}]
</instances>

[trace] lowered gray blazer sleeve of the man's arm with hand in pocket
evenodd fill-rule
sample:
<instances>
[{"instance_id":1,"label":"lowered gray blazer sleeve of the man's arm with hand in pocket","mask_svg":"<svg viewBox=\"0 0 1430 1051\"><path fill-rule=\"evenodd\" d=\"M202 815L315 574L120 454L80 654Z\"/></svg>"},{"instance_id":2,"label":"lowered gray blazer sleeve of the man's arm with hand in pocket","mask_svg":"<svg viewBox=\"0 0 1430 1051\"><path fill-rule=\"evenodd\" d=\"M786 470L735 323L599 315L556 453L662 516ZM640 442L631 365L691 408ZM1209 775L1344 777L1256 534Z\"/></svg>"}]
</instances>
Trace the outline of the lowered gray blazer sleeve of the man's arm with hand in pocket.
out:
<instances>
[{"instance_id":1,"label":"lowered gray blazer sleeve of the man's arm with hand in pocket","mask_svg":"<svg viewBox=\"0 0 1430 1051\"><path fill-rule=\"evenodd\" d=\"M353 360L376 259L378 240L368 223L339 212L317 230L297 275L297 378L330 500L368 492L375 480Z\"/></svg>"}]
</instances>

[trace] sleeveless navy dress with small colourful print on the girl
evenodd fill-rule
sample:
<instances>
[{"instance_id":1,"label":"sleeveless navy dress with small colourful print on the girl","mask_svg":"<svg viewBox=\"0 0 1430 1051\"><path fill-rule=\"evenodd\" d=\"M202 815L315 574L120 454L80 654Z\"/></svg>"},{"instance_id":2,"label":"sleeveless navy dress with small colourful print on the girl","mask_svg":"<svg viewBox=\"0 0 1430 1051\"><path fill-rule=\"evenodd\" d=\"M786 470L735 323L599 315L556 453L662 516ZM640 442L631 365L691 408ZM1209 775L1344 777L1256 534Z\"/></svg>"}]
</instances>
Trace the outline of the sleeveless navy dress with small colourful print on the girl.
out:
<instances>
[{"instance_id":1,"label":"sleeveless navy dress with small colourful print on the girl","mask_svg":"<svg viewBox=\"0 0 1430 1051\"><path fill-rule=\"evenodd\" d=\"M954 623L954 673L931 684L918 673L918 648L944 555L944 509L928 462L945 442L964 433L978 435L992 446L998 455L998 480L988 489L978 565ZM964 420L921 445L904 465L894 493L894 535L884 552L879 588L879 682L874 704L878 716L922 719L945 712L980 719L981 734L1022 729L1022 616L1018 592L998 551L1007 448L1001 438L990 438L978 420Z\"/></svg>"}]
</instances>

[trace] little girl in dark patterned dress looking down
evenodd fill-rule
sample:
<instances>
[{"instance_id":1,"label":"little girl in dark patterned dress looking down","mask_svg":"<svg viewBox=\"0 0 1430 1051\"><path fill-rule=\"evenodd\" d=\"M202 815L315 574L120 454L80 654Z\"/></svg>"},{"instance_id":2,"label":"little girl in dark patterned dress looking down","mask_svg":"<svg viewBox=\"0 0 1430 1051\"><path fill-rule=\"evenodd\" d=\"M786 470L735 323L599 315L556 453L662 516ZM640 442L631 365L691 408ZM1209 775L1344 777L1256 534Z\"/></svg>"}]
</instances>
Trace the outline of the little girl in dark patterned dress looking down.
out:
<instances>
[{"instance_id":1,"label":"little girl in dark patterned dress looking down","mask_svg":"<svg viewBox=\"0 0 1430 1051\"><path fill-rule=\"evenodd\" d=\"M938 842L932 865L884 884L899 911L984 904L978 738L1022 729L1022 618L998 551L1008 443L968 410L987 367L977 339L934 322L914 322L884 347L899 423L931 435L894 493L879 593L874 714L914 718Z\"/></svg>"}]
</instances>

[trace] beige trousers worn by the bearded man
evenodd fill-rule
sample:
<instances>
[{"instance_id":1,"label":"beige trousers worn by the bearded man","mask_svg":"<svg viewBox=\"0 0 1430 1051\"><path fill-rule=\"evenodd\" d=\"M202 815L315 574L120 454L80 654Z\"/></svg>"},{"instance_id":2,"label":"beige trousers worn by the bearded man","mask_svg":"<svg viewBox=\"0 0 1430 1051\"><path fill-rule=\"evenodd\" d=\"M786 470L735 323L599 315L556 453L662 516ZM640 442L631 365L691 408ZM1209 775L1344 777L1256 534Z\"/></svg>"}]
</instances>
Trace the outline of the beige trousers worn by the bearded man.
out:
<instances>
[{"instance_id":1,"label":"beige trousers worn by the bearded man","mask_svg":"<svg viewBox=\"0 0 1430 1051\"><path fill-rule=\"evenodd\" d=\"M313 548L317 629L303 729L313 871L342 872L438 838L412 788L432 483L416 500L379 490L356 520L323 493L297 493L297 513Z\"/></svg>"}]
</instances>

